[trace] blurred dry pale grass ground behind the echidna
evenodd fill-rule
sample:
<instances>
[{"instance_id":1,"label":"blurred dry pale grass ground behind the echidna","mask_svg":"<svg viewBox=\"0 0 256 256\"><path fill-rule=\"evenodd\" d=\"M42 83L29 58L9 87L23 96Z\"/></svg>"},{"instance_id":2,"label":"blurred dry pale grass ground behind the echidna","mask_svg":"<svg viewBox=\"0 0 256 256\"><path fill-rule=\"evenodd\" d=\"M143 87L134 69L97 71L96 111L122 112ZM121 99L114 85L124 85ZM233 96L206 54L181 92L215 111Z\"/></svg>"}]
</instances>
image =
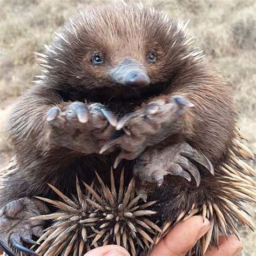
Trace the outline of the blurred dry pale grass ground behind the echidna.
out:
<instances>
[{"instance_id":1,"label":"blurred dry pale grass ground behind the echidna","mask_svg":"<svg viewBox=\"0 0 256 256\"><path fill-rule=\"evenodd\" d=\"M44 52L56 31L73 12L106 1L0 0L0 168L12 156L4 124L11 106L40 75L33 51ZM107 1L120 2L120 1ZM256 25L254 0L145 0L178 20L190 19L190 34L208 59L233 86L240 111L239 126L256 153ZM97 8L97 7L96 7ZM255 167L255 164L254 164ZM256 219L256 210L248 206ZM240 228L242 255L256 255L256 235Z\"/></svg>"}]
</instances>

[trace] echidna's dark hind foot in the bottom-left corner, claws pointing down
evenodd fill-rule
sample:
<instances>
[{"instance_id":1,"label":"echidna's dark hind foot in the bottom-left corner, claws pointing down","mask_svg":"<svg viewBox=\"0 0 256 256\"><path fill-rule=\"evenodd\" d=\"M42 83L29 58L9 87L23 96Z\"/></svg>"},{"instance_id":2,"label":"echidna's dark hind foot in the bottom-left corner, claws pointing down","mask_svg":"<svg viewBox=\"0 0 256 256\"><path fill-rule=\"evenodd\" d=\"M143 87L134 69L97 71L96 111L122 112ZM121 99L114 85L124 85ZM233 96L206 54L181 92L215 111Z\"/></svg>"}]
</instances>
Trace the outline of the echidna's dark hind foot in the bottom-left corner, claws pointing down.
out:
<instances>
[{"instance_id":1,"label":"echidna's dark hind foot in the bottom-left corner, claws pointing down","mask_svg":"<svg viewBox=\"0 0 256 256\"><path fill-rule=\"evenodd\" d=\"M48 208L37 199L28 197L11 201L0 212L0 247L8 255L16 255L9 244L16 250L38 255L22 245L22 241L37 244L32 235L39 237L43 231L43 221L30 220L31 217L48 213Z\"/></svg>"}]
</instances>

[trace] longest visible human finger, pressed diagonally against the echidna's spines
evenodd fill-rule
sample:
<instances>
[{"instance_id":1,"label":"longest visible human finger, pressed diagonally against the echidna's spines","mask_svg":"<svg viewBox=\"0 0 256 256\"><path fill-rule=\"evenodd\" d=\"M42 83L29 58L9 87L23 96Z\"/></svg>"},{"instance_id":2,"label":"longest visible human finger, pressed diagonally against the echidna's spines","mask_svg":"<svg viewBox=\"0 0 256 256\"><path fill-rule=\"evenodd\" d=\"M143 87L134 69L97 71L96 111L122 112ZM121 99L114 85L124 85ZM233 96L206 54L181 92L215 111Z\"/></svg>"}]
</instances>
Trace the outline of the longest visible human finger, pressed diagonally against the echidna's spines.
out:
<instances>
[{"instance_id":1,"label":"longest visible human finger, pressed diagonally against the echidna's spines","mask_svg":"<svg viewBox=\"0 0 256 256\"><path fill-rule=\"evenodd\" d=\"M193 216L177 224L154 248L151 256L185 255L211 227L202 216Z\"/></svg>"}]
</instances>

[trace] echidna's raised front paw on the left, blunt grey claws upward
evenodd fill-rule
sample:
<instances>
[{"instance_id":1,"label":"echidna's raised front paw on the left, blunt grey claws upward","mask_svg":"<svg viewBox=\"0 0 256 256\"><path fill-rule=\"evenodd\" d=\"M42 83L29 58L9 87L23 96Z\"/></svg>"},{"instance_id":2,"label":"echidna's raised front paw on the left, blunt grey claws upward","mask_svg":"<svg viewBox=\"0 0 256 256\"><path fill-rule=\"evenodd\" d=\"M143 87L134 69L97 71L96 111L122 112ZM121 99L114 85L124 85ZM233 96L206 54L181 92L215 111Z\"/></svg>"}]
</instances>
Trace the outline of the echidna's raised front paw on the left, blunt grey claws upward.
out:
<instances>
[{"instance_id":1,"label":"echidna's raised front paw on the left, blunt grey claws upward","mask_svg":"<svg viewBox=\"0 0 256 256\"><path fill-rule=\"evenodd\" d=\"M117 124L114 113L100 103L73 102L52 107L46 120L51 126L52 143L81 153L98 153Z\"/></svg>"}]
</instances>

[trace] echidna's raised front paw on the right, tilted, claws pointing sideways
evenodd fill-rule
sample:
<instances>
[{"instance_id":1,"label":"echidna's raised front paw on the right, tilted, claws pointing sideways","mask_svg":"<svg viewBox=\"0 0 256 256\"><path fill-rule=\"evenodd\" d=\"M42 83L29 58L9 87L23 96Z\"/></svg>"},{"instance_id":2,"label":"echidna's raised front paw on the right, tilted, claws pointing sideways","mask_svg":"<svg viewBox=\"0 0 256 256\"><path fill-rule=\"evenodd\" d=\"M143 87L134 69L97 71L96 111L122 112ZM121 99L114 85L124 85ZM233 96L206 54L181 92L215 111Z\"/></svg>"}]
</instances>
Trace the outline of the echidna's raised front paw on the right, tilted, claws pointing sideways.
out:
<instances>
[{"instance_id":1,"label":"echidna's raised front paw on the right, tilted, claws pointing sideways","mask_svg":"<svg viewBox=\"0 0 256 256\"><path fill-rule=\"evenodd\" d=\"M122 159L137 158L147 146L155 145L167 138L171 129L183 126L183 115L187 107L194 106L181 96L154 100L141 109L123 116L116 125L116 130L123 129L124 135L108 142L100 152L117 145L121 151L114 167ZM181 120L182 119L182 120ZM180 121L181 120L181 121Z\"/></svg>"}]
</instances>

